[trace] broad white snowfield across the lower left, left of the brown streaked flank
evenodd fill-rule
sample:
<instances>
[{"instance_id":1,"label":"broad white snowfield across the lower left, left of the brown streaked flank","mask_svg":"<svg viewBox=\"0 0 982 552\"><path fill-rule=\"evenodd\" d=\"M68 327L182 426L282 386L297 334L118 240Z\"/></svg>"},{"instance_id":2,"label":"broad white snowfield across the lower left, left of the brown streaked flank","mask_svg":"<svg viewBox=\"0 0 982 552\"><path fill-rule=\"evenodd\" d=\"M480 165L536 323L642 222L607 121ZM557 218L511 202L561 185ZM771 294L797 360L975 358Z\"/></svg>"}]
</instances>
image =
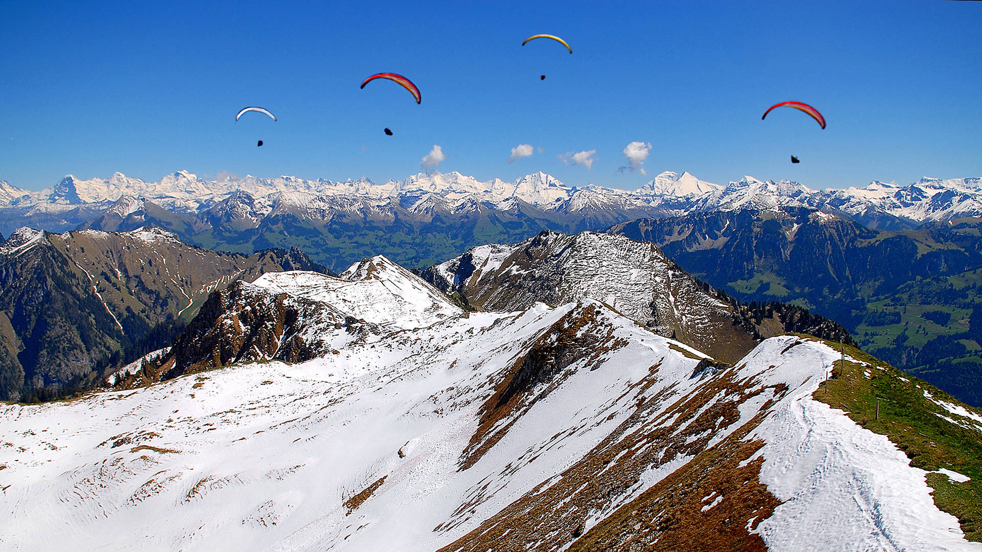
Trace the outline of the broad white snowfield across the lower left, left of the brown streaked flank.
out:
<instances>
[{"instance_id":1,"label":"broad white snowfield across the lower left, left of the brown streaked flank","mask_svg":"<svg viewBox=\"0 0 982 552\"><path fill-rule=\"evenodd\" d=\"M0 548L435 550L599 444L654 362L666 375L695 362L627 347L574 370L458 470L488 376L573 307L470 313L295 365L0 406L0 443L12 443L0 447ZM609 316L618 335L643 332ZM383 476L349 514L345 501Z\"/></svg>"}]
</instances>

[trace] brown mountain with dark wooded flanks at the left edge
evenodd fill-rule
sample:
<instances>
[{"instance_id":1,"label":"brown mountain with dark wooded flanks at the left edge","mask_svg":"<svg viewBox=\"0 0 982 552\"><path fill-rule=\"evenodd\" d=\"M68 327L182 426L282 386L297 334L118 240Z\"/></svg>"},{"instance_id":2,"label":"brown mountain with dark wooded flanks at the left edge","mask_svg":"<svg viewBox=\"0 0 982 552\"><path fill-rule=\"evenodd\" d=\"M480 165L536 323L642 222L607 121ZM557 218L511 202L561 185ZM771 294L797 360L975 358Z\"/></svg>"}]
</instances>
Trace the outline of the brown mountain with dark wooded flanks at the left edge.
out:
<instances>
[{"instance_id":1,"label":"brown mountain with dark wooded flanks at the left edge","mask_svg":"<svg viewBox=\"0 0 982 552\"><path fill-rule=\"evenodd\" d=\"M105 368L168 345L212 290L317 267L296 249L219 253L159 229L22 228L0 246L0 398L90 387Z\"/></svg>"}]
</instances>

